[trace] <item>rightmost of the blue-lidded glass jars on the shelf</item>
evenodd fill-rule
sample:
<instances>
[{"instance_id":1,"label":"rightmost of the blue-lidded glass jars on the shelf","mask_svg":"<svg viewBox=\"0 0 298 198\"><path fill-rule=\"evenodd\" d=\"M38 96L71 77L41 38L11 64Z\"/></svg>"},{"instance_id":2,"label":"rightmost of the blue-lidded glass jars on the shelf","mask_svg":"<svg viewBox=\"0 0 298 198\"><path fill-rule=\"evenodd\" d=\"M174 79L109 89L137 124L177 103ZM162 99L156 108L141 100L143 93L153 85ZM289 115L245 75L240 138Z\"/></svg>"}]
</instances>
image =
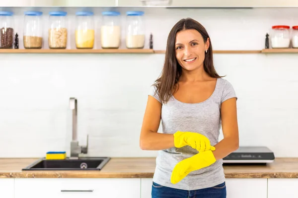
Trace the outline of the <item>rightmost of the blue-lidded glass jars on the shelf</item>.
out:
<instances>
[{"instance_id":1,"label":"rightmost of the blue-lidded glass jars on the shelf","mask_svg":"<svg viewBox=\"0 0 298 198\"><path fill-rule=\"evenodd\" d=\"M144 12L130 11L126 14L126 48L143 49L145 45Z\"/></svg>"}]
</instances>

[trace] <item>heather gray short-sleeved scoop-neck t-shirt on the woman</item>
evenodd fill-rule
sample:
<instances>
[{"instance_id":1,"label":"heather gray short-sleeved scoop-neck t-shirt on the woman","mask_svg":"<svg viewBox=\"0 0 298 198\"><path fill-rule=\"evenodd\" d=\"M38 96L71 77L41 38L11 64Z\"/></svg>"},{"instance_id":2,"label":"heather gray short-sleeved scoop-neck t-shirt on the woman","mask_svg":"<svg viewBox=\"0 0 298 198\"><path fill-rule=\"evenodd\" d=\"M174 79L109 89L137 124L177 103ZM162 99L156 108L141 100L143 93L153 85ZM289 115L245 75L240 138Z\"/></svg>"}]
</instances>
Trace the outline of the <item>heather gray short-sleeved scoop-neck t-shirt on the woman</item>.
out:
<instances>
[{"instance_id":1,"label":"heather gray short-sleeved scoop-neck t-shirt on the woman","mask_svg":"<svg viewBox=\"0 0 298 198\"><path fill-rule=\"evenodd\" d=\"M150 87L149 95L160 102L153 86ZM213 94L203 102L184 103L172 96L166 104L162 104L162 133L196 132L206 136L212 146L216 145L219 142L221 129L221 103L230 98L237 99L232 85L223 78L218 78ZM208 167L190 172L177 184L171 183L174 166L179 161L197 153L198 151L190 146L158 150L153 181L162 186L189 191L223 183L225 181L223 159L217 160Z\"/></svg>"}]
</instances>

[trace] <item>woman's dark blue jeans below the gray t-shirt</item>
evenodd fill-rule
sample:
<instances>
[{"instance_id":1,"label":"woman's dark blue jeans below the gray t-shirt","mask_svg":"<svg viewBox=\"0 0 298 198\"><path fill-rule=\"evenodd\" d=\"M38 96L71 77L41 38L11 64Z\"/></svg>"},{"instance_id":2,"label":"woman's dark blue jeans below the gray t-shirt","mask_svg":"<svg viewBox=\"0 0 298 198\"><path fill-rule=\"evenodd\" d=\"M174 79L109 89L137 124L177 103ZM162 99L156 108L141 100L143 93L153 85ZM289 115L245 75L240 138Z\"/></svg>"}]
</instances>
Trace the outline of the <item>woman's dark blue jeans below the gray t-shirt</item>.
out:
<instances>
[{"instance_id":1,"label":"woman's dark blue jeans below the gray t-shirt","mask_svg":"<svg viewBox=\"0 0 298 198\"><path fill-rule=\"evenodd\" d=\"M225 182L214 187L186 191L152 183L151 198L226 198Z\"/></svg>"}]
</instances>

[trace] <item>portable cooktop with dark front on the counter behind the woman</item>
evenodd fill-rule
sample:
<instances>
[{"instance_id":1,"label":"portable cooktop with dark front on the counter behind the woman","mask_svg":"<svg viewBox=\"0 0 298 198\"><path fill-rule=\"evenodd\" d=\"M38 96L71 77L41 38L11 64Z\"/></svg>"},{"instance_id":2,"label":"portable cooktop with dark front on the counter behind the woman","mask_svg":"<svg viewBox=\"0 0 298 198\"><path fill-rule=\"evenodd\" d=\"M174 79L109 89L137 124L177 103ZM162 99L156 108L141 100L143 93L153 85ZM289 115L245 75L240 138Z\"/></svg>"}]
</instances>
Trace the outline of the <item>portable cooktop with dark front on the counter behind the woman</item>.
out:
<instances>
[{"instance_id":1,"label":"portable cooktop with dark front on the counter behind the woman","mask_svg":"<svg viewBox=\"0 0 298 198\"><path fill-rule=\"evenodd\" d=\"M223 158L223 163L272 163L274 153L267 147L239 147Z\"/></svg>"}]
</instances>

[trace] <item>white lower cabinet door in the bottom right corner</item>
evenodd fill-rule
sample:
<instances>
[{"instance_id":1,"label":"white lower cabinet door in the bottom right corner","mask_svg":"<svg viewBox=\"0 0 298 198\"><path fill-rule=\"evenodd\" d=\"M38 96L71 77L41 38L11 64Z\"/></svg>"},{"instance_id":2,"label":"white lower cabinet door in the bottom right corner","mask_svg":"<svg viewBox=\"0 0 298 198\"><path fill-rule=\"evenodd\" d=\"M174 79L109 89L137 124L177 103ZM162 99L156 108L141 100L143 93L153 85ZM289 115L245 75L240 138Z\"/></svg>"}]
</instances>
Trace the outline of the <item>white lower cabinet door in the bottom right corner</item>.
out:
<instances>
[{"instance_id":1,"label":"white lower cabinet door in the bottom right corner","mask_svg":"<svg viewBox=\"0 0 298 198\"><path fill-rule=\"evenodd\" d=\"M298 179L268 179L268 198L296 198Z\"/></svg>"}]
</instances>

